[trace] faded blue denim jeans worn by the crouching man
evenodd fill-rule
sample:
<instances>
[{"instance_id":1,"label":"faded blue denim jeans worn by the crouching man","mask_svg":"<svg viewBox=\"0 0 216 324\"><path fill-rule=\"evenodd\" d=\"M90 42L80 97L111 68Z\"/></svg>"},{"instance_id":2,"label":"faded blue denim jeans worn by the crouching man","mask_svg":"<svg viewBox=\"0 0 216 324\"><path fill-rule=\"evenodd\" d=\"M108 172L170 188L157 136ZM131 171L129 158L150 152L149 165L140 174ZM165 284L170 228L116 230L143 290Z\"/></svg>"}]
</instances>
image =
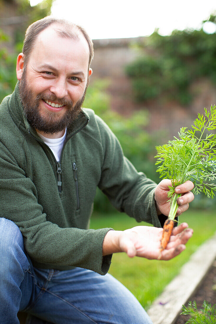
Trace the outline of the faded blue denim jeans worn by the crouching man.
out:
<instances>
[{"instance_id":1,"label":"faded blue denim jeans worn by the crouching man","mask_svg":"<svg viewBox=\"0 0 216 324\"><path fill-rule=\"evenodd\" d=\"M110 274L81 268L38 269L25 253L22 234L0 218L0 323L152 324L137 299Z\"/></svg>"}]
</instances>

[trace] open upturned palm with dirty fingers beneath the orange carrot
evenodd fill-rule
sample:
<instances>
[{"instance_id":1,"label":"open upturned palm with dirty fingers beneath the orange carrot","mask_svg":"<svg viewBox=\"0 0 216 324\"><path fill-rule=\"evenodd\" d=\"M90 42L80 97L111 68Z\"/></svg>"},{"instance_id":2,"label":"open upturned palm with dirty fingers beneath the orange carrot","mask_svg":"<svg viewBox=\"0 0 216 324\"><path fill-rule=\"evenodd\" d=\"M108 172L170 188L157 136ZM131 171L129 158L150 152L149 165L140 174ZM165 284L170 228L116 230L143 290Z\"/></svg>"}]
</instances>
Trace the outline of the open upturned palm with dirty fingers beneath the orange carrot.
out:
<instances>
[{"instance_id":1,"label":"open upturned palm with dirty fingers beneath the orange carrot","mask_svg":"<svg viewBox=\"0 0 216 324\"><path fill-rule=\"evenodd\" d=\"M186 249L185 244L193 235L193 230L187 227L187 223L174 227L170 241L162 252L160 245L163 229L151 226L136 226L121 232L119 247L131 258L138 256L150 260L170 260Z\"/></svg>"}]
</instances>

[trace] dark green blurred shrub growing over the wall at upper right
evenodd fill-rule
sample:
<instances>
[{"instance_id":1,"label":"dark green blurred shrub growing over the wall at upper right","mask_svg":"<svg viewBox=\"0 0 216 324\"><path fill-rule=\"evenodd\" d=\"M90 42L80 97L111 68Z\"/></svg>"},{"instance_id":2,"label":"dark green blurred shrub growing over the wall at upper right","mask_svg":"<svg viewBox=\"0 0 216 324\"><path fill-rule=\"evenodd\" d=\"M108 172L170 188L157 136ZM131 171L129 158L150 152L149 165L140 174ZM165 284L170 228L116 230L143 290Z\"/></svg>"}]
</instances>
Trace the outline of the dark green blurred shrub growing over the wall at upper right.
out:
<instances>
[{"instance_id":1,"label":"dark green blurred shrub growing over the wall at upper right","mask_svg":"<svg viewBox=\"0 0 216 324\"><path fill-rule=\"evenodd\" d=\"M208 21L216 24L215 17L211 15ZM141 57L126 66L139 102L162 97L186 105L195 79L207 77L216 84L216 33L207 34L202 28L161 36L155 30L139 47Z\"/></svg>"}]
</instances>

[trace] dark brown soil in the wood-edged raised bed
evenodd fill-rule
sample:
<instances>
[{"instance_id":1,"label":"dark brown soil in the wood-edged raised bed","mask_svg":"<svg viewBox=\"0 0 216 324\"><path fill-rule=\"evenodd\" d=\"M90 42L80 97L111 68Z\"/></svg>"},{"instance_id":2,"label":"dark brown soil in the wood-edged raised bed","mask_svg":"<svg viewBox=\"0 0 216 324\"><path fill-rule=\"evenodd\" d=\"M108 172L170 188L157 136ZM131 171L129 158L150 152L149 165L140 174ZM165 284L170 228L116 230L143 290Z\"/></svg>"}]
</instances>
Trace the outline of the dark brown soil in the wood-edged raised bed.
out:
<instances>
[{"instance_id":1,"label":"dark brown soil in the wood-edged raised bed","mask_svg":"<svg viewBox=\"0 0 216 324\"><path fill-rule=\"evenodd\" d=\"M208 301L211 305L216 304L216 261L214 261L213 266L210 268L209 272L202 281L197 292L189 298L192 302L195 300L197 303L197 308L202 307L203 301ZM185 305L188 306L188 303ZM188 315L179 315L174 324L185 324L190 317Z\"/></svg>"}]
</instances>

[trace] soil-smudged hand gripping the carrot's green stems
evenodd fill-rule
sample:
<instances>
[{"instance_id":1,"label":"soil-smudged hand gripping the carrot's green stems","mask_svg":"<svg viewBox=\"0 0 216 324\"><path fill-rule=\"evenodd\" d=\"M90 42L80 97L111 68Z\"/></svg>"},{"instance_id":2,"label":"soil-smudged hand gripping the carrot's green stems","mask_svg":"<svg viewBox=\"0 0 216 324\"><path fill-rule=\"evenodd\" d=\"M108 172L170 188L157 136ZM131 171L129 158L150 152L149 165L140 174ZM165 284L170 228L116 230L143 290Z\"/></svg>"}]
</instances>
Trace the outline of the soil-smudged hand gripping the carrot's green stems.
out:
<instances>
[{"instance_id":1,"label":"soil-smudged hand gripping the carrot's green stems","mask_svg":"<svg viewBox=\"0 0 216 324\"><path fill-rule=\"evenodd\" d=\"M154 191L157 212L158 214L164 214L166 216L168 216L170 212L170 202L167 202L168 186L172 186L171 180L164 179L157 185ZM194 195L190 191L193 187L193 182L188 180L175 188L176 193L182 194L182 196L177 199L177 204L179 205L177 216L185 212L189 207L189 203L194 199Z\"/></svg>"}]
</instances>

